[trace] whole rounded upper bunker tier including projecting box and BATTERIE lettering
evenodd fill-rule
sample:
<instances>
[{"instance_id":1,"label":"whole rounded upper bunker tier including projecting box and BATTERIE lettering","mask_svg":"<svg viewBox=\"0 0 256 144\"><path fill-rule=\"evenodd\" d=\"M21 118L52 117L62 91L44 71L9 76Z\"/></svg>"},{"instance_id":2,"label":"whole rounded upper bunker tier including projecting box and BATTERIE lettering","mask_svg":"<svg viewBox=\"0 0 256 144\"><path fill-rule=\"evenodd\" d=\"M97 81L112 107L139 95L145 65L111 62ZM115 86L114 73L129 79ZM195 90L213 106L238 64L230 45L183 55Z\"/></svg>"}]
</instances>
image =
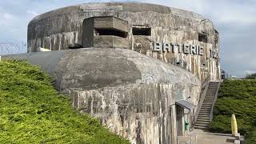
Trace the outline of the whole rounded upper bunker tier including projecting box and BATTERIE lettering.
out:
<instances>
[{"instance_id":1,"label":"whole rounded upper bunker tier including projecting box and BATTERIE lettering","mask_svg":"<svg viewBox=\"0 0 256 144\"><path fill-rule=\"evenodd\" d=\"M52 10L28 26L28 51L70 46L125 48L218 80L219 35L187 10L140 2L86 3Z\"/></svg>"}]
</instances>

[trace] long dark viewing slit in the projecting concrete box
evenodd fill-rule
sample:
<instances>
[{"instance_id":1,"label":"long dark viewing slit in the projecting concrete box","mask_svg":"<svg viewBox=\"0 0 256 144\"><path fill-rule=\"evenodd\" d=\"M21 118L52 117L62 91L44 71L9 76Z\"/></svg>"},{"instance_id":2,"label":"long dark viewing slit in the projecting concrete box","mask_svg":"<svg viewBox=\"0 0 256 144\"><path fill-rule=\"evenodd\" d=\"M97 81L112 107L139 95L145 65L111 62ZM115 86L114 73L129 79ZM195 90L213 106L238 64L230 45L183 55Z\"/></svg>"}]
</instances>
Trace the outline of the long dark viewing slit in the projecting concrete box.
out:
<instances>
[{"instance_id":1,"label":"long dark viewing slit in the projecting concrete box","mask_svg":"<svg viewBox=\"0 0 256 144\"><path fill-rule=\"evenodd\" d=\"M121 30L114 29L95 29L97 35L114 35L122 38L127 37L127 33Z\"/></svg>"}]
</instances>

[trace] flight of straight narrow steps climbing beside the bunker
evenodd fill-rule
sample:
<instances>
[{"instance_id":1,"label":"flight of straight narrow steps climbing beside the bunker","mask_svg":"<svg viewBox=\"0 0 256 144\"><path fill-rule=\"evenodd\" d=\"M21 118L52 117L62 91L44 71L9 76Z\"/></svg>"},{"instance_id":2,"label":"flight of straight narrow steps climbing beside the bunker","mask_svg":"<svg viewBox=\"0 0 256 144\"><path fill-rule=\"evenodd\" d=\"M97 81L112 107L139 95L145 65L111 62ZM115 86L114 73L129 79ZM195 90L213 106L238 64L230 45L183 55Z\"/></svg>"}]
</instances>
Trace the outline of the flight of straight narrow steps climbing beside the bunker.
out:
<instances>
[{"instance_id":1,"label":"flight of straight narrow steps climbing beside the bunker","mask_svg":"<svg viewBox=\"0 0 256 144\"><path fill-rule=\"evenodd\" d=\"M210 82L198 113L194 128L207 130L213 117L214 103L218 97L220 82Z\"/></svg>"}]
</instances>

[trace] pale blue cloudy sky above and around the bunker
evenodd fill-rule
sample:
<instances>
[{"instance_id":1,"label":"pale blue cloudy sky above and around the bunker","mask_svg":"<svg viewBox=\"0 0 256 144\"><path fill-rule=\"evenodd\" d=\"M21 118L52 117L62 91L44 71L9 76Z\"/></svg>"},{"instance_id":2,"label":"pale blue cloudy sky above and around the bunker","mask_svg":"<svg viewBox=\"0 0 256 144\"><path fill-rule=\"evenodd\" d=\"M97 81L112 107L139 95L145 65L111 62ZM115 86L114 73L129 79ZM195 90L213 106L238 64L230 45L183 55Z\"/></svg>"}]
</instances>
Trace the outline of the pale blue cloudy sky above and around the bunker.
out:
<instances>
[{"instance_id":1,"label":"pale blue cloudy sky above and around the bunker","mask_svg":"<svg viewBox=\"0 0 256 144\"><path fill-rule=\"evenodd\" d=\"M36 15L59 7L86 2L95 1L0 0L0 42L26 42L28 22ZM256 0L137 0L137 2L191 10L209 18L221 35L222 69L239 77L247 72L256 71Z\"/></svg>"}]
</instances>

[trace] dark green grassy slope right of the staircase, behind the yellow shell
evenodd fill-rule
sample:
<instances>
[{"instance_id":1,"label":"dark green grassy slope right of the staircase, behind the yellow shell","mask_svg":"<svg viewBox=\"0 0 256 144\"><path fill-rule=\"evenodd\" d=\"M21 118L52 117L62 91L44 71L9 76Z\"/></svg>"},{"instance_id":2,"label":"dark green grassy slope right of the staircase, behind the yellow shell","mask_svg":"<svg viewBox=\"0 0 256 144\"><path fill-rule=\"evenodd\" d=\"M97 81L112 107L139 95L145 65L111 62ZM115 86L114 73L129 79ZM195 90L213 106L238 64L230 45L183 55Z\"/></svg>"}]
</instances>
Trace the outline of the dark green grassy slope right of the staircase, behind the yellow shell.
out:
<instances>
[{"instance_id":1,"label":"dark green grassy slope right of the staircase, behind the yellow shell","mask_svg":"<svg viewBox=\"0 0 256 144\"><path fill-rule=\"evenodd\" d=\"M211 130L231 133L231 114L236 115L238 132L248 143L256 143L256 80L222 82Z\"/></svg>"}]
</instances>

